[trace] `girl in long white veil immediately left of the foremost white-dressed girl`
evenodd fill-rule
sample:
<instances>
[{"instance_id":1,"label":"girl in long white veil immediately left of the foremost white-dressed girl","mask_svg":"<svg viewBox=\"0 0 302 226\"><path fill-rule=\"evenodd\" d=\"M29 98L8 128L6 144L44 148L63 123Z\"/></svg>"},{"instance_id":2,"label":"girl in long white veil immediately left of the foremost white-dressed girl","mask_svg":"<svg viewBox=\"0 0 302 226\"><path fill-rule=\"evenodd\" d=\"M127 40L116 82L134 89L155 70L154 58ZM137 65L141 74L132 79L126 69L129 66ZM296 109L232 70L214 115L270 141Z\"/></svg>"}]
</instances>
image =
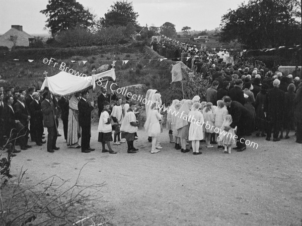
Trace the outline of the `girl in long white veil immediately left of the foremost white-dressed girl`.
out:
<instances>
[{"instance_id":1,"label":"girl in long white veil immediately left of the foremost white-dressed girl","mask_svg":"<svg viewBox=\"0 0 302 226\"><path fill-rule=\"evenodd\" d=\"M188 113L192 106L192 100L187 99L179 108L180 115L177 116L175 122L175 129L178 130L178 135L181 141L181 152L186 153L190 150L187 149L187 140L189 136L189 126L188 126Z\"/></svg>"}]
</instances>

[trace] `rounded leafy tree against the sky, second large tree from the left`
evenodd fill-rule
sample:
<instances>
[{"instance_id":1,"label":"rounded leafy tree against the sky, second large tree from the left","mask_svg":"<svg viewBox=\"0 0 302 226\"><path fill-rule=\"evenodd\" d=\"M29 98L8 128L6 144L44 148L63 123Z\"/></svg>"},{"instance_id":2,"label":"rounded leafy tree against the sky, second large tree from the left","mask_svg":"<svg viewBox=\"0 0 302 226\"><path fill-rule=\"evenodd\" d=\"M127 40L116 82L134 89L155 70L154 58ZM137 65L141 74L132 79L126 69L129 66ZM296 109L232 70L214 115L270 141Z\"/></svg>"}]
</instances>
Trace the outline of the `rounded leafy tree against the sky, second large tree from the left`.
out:
<instances>
[{"instance_id":1,"label":"rounded leafy tree against the sky, second large tree from the left","mask_svg":"<svg viewBox=\"0 0 302 226\"><path fill-rule=\"evenodd\" d=\"M108 10L108 13L104 16L105 18L101 18L99 21L101 27L138 25L136 21L138 14L134 12L132 2L121 1L114 3L111 6L111 10Z\"/></svg>"}]
</instances>

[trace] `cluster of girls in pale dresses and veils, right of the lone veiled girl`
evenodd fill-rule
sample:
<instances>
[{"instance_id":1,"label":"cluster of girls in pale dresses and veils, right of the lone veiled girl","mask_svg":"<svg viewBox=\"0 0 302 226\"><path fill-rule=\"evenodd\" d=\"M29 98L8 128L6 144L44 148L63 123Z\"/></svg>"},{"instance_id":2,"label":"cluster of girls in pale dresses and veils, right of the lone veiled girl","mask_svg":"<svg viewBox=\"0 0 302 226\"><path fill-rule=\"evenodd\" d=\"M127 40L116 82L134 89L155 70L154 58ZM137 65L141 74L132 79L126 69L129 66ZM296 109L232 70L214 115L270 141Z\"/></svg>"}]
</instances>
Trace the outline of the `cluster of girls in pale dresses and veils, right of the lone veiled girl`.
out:
<instances>
[{"instance_id":1,"label":"cluster of girls in pale dresses and veils, right of the lone veiled girl","mask_svg":"<svg viewBox=\"0 0 302 226\"><path fill-rule=\"evenodd\" d=\"M205 141L207 148L213 148L211 139L218 147L224 147L224 153L230 153L236 144L233 137L236 131L230 128L232 116L222 100L217 101L217 106L211 102L199 102L200 97L194 96L192 100L175 99L168 109L167 129L169 130L170 143L175 143L175 149L189 152L188 141L191 142L194 155L199 155L200 141ZM217 128L217 129L216 129ZM224 133L222 131L225 131Z\"/></svg>"}]
</instances>

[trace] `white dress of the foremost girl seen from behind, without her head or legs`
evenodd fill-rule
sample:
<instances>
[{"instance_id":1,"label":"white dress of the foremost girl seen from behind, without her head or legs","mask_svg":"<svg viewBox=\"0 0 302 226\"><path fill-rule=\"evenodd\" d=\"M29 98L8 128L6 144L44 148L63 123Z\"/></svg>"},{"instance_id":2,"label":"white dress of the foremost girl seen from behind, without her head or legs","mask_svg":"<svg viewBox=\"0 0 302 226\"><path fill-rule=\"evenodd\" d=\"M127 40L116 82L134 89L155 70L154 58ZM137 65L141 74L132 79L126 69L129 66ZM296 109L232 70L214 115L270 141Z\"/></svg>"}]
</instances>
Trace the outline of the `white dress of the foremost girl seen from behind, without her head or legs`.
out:
<instances>
[{"instance_id":1,"label":"white dress of the foremost girl seen from behind, without her head or legs","mask_svg":"<svg viewBox=\"0 0 302 226\"><path fill-rule=\"evenodd\" d=\"M190 122L189 141L202 140L202 123L204 122L202 113L199 110L190 111L188 118Z\"/></svg>"}]
</instances>

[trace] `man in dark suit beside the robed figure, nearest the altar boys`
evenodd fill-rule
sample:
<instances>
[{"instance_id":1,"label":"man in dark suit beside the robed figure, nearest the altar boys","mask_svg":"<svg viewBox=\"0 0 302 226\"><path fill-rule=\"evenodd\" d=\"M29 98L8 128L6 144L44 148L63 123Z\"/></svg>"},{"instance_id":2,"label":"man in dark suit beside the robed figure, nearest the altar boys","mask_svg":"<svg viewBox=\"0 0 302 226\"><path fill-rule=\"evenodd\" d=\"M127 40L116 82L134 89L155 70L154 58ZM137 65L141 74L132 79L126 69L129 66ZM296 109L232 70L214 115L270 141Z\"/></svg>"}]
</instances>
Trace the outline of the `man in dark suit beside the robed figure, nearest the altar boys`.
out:
<instances>
[{"instance_id":1,"label":"man in dark suit beside the robed figure, nearest the altar boys","mask_svg":"<svg viewBox=\"0 0 302 226\"><path fill-rule=\"evenodd\" d=\"M102 95L102 94L101 94ZM79 125L81 126L81 137L82 137L82 152L89 153L95 149L90 147L91 137L91 111L94 109L88 101L89 92L84 91L82 98L79 100Z\"/></svg>"}]
</instances>

